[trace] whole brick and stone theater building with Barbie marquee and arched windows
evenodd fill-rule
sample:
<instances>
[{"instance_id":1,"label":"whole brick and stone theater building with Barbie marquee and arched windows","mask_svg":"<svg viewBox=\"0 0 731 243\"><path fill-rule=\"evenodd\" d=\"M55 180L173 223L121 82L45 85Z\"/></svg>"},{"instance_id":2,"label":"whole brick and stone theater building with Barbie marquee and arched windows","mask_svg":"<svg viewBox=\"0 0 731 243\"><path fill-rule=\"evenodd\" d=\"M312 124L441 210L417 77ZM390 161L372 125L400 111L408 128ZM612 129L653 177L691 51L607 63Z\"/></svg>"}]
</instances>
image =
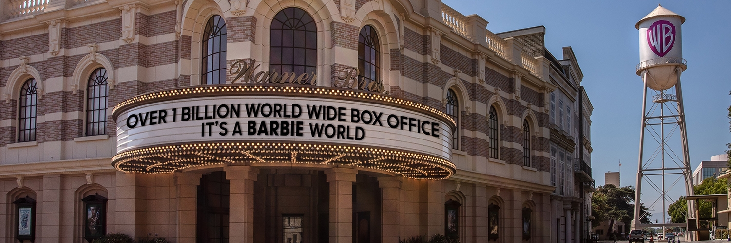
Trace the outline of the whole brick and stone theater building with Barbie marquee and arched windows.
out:
<instances>
[{"instance_id":1,"label":"whole brick and stone theater building with Barbie marquee and arched windows","mask_svg":"<svg viewBox=\"0 0 731 243\"><path fill-rule=\"evenodd\" d=\"M550 154L575 58L480 16L435 0L0 9L0 242L580 241L586 215L552 212Z\"/></svg>"}]
</instances>

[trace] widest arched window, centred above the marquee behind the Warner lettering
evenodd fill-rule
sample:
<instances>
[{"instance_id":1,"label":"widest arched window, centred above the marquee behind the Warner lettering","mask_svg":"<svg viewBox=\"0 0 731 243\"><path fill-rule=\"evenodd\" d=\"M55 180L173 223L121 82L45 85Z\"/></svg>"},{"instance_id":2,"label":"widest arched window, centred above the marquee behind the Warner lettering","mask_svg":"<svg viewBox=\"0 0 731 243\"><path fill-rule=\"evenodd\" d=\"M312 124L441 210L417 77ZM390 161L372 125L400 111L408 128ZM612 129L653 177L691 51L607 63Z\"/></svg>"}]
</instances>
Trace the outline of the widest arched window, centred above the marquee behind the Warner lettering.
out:
<instances>
[{"instance_id":1,"label":"widest arched window, centred above the marquee behind the Warner lettering","mask_svg":"<svg viewBox=\"0 0 731 243\"><path fill-rule=\"evenodd\" d=\"M317 73L317 26L312 16L288 7L274 16L270 30L270 70Z\"/></svg>"}]
</instances>

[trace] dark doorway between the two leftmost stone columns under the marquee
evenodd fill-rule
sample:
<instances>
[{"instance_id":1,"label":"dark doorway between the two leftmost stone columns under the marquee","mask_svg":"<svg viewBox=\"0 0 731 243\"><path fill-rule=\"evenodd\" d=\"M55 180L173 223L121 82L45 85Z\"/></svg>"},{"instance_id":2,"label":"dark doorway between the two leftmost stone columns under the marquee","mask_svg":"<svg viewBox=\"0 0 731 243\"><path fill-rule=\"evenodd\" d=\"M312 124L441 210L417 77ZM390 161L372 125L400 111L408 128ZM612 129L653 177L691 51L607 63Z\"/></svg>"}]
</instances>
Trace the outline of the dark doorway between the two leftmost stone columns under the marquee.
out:
<instances>
[{"instance_id":1,"label":"dark doorway between the two leftmost stone columns under the marquee","mask_svg":"<svg viewBox=\"0 0 731 243\"><path fill-rule=\"evenodd\" d=\"M224 171L200 178L197 208L197 243L228 243L229 181Z\"/></svg>"}]
</instances>

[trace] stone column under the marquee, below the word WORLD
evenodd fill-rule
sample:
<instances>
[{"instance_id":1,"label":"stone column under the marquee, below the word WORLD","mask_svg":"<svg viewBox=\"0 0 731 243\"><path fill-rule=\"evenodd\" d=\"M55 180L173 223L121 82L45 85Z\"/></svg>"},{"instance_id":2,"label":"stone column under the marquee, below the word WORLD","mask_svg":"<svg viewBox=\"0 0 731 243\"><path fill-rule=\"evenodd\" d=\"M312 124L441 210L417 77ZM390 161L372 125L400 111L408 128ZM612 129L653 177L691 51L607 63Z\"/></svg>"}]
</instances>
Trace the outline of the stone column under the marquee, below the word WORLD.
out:
<instances>
[{"instance_id":1,"label":"stone column under the marquee, below the word WORLD","mask_svg":"<svg viewBox=\"0 0 731 243\"><path fill-rule=\"evenodd\" d=\"M325 170L330 182L330 243L353 242L353 182L356 169Z\"/></svg>"}]
</instances>

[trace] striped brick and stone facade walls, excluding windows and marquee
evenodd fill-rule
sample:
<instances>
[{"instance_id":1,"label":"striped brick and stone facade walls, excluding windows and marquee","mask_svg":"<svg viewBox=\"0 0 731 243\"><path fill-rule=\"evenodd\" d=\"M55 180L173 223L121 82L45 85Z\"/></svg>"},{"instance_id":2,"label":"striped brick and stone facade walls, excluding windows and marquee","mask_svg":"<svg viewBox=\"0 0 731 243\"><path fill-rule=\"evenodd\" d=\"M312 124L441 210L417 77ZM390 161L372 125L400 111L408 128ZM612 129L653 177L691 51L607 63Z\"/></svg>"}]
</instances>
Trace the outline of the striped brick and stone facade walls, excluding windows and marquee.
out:
<instances>
[{"instance_id":1,"label":"striped brick and stone facade walls, excluding windows and marquee","mask_svg":"<svg viewBox=\"0 0 731 243\"><path fill-rule=\"evenodd\" d=\"M17 2L0 1L3 11ZM257 71L268 71L272 18L286 7L305 10L317 24L318 85L332 86L343 69L358 66L358 33L371 25L379 34L380 75L390 96L446 112L447 90L453 90L459 112L459 149L451 156L455 175L413 180L357 168L253 164L135 174L112 166L118 139L113 107L143 93L201 85L202 32L208 18L221 15L226 22L227 66L255 60L262 64ZM557 237L555 230L561 226L553 213L550 147L556 128L549 99L564 84L553 78L561 76L553 68L558 61L545 56L545 29L514 38L499 34L501 47L496 48L485 40L496 36L485 28L485 20L450 12L461 22L447 24L435 10L440 7L449 9L438 0L51 0L45 9L27 13L8 7L15 12L0 15L0 242L15 242L12 202L25 196L37 201L36 242L85 241L80 198L94 193L109 199L106 232L195 242L197 190L202 190L197 188L221 183L211 179L216 174L230 183L227 234L232 242L281 241L277 214L319 215L307 222L313 232L304 235L308 241L352 242L353 206L333 197L357 198L353 205L370 210L376 228L371 242L444 234L444 203L449 200L461 204L461 242L488 241L490 204L501 210L497 242L579 242L580 237ZM578 70L571 58L569 64ZM85 136L86 82L99 67L109 74L107 130ZM20 85L31 77L39 82L37 136L18 142ZM233 80L229 72L226 80ZM499 113L498 158L489 158L490 107ZM578 113L575 128L581 123ZM526 121L531 144L527 166ZM260 192L279 196L258 197ZM295 203L327 201L322 196L328 193L329 204ZM263 210L262 205L272 206ZM524 209L531 210L530 239L523 238ZM329 218L322 216L327 214ZM317 227L329 227L329 236L315 234Z\"/></svg>"}]
</instances>

